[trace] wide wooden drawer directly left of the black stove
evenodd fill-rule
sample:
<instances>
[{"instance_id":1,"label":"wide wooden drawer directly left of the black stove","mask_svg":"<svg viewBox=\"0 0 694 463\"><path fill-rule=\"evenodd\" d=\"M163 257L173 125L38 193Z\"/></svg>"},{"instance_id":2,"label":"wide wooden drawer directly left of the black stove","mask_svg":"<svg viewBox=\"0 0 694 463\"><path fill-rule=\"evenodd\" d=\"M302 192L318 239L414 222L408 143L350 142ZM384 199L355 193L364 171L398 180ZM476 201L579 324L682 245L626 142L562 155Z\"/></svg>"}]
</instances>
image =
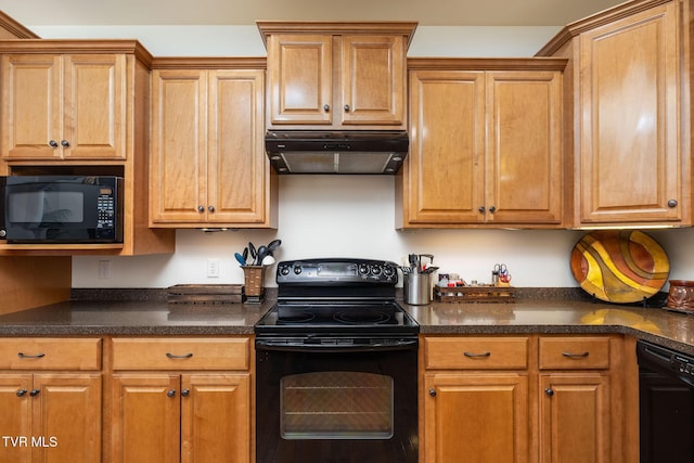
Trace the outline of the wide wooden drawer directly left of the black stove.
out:
<instances>
[{"instance_id":1,"label":"wide wooden drawer directly left of the black stove","mask_svg":"<svg viewBox=\"0 0 694 463\"><path fill-rule=\"evenodd\" d=\"M248 370L243 338L114 338L114 370Z\"/></svg>"}]
</instances>

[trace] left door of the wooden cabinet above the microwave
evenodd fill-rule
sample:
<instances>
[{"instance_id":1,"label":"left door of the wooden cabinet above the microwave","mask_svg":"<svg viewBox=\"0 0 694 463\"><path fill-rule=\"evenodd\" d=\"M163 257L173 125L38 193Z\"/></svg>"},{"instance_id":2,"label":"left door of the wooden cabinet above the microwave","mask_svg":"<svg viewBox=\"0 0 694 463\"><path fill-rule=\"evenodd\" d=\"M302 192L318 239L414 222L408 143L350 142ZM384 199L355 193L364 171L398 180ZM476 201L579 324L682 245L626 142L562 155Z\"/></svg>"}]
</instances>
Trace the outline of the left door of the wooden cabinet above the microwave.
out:
<instances>
[{"instance_id":1,"label":"left door of the wooden cabinet above the microwave","mask_svg":"<svg viewBox=\"0 0 694 463\"><path fill-rule=\"evenodd\" d=\"M62 77L60 55L2 56L3 157L60 158L63 131Z\"/></svg>"}]
</instances>

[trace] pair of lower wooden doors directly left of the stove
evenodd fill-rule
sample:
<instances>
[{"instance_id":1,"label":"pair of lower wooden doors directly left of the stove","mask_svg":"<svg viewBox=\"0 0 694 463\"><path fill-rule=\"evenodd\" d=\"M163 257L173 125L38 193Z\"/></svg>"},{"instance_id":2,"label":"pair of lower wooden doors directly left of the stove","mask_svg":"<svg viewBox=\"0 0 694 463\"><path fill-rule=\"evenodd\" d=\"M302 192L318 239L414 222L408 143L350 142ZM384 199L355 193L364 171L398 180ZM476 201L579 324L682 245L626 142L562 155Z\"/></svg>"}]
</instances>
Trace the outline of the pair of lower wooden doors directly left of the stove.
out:
<instances>
[{"instance_id":1,"label":"pair of lower wooden doors directly left of the stove","mask_svg":"<svg viewBox=\"0 0 694 463\"><path fill-rule=\"evenodd\" d=\"M248 462L249 374L113 378L114 462Z\"/></svg>"}]
</instances>

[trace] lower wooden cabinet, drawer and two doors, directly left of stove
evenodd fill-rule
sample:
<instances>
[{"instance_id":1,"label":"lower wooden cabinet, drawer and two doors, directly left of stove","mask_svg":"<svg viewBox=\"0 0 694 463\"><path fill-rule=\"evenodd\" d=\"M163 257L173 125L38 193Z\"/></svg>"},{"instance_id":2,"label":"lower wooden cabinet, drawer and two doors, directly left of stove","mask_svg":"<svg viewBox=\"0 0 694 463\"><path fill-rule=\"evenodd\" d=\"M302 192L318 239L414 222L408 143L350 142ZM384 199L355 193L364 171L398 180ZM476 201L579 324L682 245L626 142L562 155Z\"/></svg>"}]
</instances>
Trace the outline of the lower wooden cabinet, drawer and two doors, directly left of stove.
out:
<instances>
[{"instance_id":1,"label":"lower wooden cabinet, drawer and two doors, directly left of stove","mask_svg":"<svg viewBox=\"0 0 694 463\"><path fill-rule=\"evenodd\" d=\"M250 462L250 342L113 338L114 462Z\"/></svg>"}]
</instances>

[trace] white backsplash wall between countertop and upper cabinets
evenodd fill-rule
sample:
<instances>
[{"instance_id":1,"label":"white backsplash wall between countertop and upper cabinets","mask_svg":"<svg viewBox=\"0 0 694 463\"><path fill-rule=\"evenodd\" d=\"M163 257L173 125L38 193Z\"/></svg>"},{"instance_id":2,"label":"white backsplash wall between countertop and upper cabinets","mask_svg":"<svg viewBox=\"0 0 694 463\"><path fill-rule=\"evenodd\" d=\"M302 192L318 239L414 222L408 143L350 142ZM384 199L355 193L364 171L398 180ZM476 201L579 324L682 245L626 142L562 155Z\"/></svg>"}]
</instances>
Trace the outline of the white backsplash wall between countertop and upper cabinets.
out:
<instances>
[{"instance_id":1,"label":"white backsplash wall between countertop and upper cabinets","mask_svg":"<svg viewBox=\"0 0 694 463\"><path fill-rule=\"evenodd\" d=\"M409 253L433 254L442 272L489 282L504 262L522 287L576 286L569 255L582 231L568 230L395 230L394 178L284 176L280 178L279 230L205 233L182 230L174 255L75 257L74 287L166 287L180 283L242 283L233 258L248 241L279 237L278 259L364 257L400 262ZM694 230L650 231L668 252L673 278L694 279ZM219 259L220 276L207 278L207 260ZM100 260L112 267L99 275ZM274 285L271 267L266 278Z\"/></svg>"}]
</instances>

